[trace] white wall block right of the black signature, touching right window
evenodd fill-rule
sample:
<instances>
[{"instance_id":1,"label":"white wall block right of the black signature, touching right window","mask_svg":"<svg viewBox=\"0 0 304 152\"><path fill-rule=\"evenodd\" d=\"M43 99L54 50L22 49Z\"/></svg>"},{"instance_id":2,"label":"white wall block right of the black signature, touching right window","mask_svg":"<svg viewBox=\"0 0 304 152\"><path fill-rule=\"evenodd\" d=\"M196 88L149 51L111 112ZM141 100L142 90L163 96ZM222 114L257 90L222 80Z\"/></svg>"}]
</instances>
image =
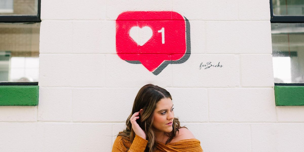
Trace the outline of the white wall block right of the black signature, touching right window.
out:
<instances>
[{"instance_id":1,"label":"white wall block right of the black signature, touching right window","mask_svg":"<svg viewBox=\"0 0 304 152\"><path fill-rule=\"evenodd\" d=\"M250 87L274 86L272 55L241 55L241 85Z\"/></svg>"}]
</instances>

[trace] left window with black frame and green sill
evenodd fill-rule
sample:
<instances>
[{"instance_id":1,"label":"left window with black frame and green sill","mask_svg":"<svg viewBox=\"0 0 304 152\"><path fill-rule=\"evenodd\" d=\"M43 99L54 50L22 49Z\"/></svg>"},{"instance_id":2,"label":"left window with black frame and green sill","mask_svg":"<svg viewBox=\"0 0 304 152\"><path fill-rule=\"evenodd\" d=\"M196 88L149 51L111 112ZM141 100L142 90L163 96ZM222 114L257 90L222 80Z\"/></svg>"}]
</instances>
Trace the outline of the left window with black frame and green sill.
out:
<instances>
[{"instance_id":1,"label":"left window with black frame and green sill","mask_svg":"<svg viewBox=\"0 0 304 152\"><path fill-rule=\"evenodd\" d=\"M40 3L0 0L0 105L38 104Z\"/></svg>"}]
</instances>

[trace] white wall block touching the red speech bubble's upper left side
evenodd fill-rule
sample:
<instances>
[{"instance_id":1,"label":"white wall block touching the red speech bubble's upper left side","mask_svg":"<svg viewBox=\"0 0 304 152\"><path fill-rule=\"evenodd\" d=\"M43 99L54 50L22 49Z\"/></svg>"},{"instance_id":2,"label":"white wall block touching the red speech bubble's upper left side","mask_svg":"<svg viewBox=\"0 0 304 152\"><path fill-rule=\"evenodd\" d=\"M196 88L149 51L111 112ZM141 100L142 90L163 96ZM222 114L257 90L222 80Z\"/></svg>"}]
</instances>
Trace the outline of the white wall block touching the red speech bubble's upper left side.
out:
<instances>
[{"instance_id":1,"label":"white wall block touching the red speech bubble's upper left side","mask_svg":"<svg viewBox=\"0 0 304 152\"><path fill-rule=\"evenodd\" d=\"M116 53L115 21L74 21L73 53Z\"/></svg>"}]
</instances>

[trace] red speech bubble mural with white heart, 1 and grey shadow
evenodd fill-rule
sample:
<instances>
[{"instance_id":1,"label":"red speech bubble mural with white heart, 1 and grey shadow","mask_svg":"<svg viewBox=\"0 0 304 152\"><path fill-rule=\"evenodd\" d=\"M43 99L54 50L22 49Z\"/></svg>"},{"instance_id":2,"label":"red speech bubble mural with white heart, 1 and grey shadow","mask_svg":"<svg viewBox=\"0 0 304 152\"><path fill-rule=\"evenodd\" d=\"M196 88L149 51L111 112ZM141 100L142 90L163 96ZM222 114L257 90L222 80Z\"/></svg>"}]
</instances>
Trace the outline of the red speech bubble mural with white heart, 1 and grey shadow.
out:
<instances>
[{"instance_id":1,"label":"red speech bubble mural with white heart, 1 and grey shadow","mask_svg":"<svg viewBox=\"0 0 304 152\"><path fill-rule=\"evenodd\" d=\"M116 19L116 52L157 75L190 57L190 24L177 12L123 12Z\"/></svg>"}]
</instances>

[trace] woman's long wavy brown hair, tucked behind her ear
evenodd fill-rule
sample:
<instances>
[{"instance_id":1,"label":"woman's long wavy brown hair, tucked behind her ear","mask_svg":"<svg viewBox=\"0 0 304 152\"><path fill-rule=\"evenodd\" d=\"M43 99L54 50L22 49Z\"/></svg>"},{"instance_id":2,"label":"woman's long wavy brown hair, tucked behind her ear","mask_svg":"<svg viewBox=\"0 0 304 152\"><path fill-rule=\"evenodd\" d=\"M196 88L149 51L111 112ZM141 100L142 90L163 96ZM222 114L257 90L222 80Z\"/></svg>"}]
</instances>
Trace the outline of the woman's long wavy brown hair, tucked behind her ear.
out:
<instances>
[{"instance_id":1,"label":"woman's long wavy brown hair, tucked behind her ear","mask_svg":"<svg viewBox=\"0 0 304 152\"><path fill-rule=\"evenodd\" d=\"M134 130L132 129L132 124L129 121L131 116L135 112L139 112L140 109L143 109L143 112L140 114L140 119L136 120L136 123L140 126L140 128L146 133L146 140L148 140L148 144L146 147L145 152L153 152L156 149L156 137L154 134L154 131L152 129L152 122L153 122L153 113L156 109L157 103L162 98L171 98L170 93L157 85L148 84L140 88L138 91L134 103L132 112L130 113L128 119L126 120L126 129L119 132L117 136L122 136L123 138L123 144L125 145L125 142L133 142L135 138ZM169 139L166 141L166 144L169 143L176 135L176 132L179 128L186 128L185 126L181 127L180 122L178 121L178 118L173 119L173 125L172 125L172 132L167 133L167 136L169 136ZM127 148L126 151L128 151L129 148Z\"/></svg>"}]
</instances>

